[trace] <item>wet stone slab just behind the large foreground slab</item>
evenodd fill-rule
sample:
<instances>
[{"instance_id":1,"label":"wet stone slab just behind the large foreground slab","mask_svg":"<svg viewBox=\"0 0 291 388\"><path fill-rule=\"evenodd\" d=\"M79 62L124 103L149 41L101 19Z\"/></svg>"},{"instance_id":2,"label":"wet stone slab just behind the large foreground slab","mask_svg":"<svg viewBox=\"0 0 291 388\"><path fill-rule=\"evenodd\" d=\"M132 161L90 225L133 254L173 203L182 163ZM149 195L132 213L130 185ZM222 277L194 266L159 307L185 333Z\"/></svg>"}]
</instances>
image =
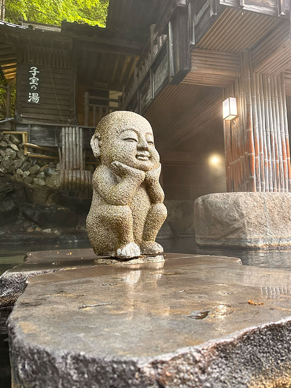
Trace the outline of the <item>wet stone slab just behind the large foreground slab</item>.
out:
<instances>
[{"instance_id":1,"label":"wet stone slab just behind the large foreground slab","mask_svg":"<svg viewBox=\"0 0 291 388\"><path fill-rule=\"evenodd\" d=\"M108 256L96 256L93 249L60 249L49 251L28 252L24 262L4 272L0 276L0 307L12 306L26 287L26 281L31 276L48 274L51 272L76 269L80 267L93 267L105 264L129 265L143 262L160 262L164 259L178 259L186 257L200 257L199 255L185 255L164 253L152 258L139 258L134 260L113 259ZM205 256L210 257L210 256ZM217 262L225 257L216 257ZM228 262L241 263L241 259L228 258Z\"/></svg>"}]
</instances>

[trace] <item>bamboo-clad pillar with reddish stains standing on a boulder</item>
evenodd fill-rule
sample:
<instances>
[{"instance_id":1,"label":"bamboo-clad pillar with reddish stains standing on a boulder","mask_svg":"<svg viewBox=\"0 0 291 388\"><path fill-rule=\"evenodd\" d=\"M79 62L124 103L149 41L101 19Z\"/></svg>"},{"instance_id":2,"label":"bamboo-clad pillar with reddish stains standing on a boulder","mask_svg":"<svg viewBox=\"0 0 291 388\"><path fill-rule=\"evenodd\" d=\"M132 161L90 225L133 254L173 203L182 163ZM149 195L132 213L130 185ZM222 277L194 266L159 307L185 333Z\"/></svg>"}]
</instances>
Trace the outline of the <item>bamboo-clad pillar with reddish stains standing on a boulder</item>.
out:
<instances>
[{"instance_id":1,"label":"bamboo-clad pillar with reddish stains standing on a boulder","mask_svg":"<svg viewBox=\"0 0 291 388\"><path fill-rule=\"evenodd\" d=\"M241 60L241 77L224 90L239 113L224 122L227 191L290 192L284 74L254 73L248 51Z\"/></svg>"}]
</instances>

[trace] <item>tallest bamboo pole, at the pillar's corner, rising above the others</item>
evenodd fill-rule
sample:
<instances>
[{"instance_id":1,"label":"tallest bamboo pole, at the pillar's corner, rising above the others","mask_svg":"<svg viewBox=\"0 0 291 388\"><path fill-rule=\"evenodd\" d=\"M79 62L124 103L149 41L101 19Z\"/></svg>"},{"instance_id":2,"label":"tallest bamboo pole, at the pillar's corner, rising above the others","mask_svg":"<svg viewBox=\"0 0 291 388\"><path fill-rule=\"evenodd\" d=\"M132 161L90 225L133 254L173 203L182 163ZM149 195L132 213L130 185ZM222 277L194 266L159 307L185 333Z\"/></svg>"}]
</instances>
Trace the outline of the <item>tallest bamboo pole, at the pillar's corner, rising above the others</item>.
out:
<instances>
[{"instance_id":1,"label":"tallest bamboo pole, at the pillar's corner, rising above the others","mask_svg":"<svg viewBox=\"0 0 291 388\"><path fill-rule=\"evenodd\" d=\"M243 51L243 83L245 93L245 116L246 116L246 145L248 155L248 191L256 191L256 178L255 178L255 146L254 146L254 134L253 134L253 109L252 109L252 97L251 97L251 74L250 74L250 57L249 51Z\"/></svg>"}]
</instances>

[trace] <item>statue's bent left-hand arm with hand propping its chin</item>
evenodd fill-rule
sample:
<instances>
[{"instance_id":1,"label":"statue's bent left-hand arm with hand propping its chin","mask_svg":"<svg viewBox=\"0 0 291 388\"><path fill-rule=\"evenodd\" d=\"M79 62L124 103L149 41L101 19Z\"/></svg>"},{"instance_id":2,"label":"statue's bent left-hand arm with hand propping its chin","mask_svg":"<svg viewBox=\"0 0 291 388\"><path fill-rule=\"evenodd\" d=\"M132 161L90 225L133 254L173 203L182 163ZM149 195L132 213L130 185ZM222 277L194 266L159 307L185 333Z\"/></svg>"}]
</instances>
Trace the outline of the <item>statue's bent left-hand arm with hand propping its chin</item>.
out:
<instances>
[{"instance_id":1,"label":"statue's bent left-hand arm with hand propping its chin","mask_svg":"<svg viewBox=\"0 0 291 388\"><path fill-rule=\"evenodd\" d=\"M113 162L112 170L121 177L114 183L113 172L108 166L101 167L94 179L94 188L98 194L111 205L128 205L137 189L145 179L145 173L139 170L128 171L122 163ZM127 170L126 172L124 170ZM134 170L134 169L132 169Z\"/></svg>"}]
</instances>

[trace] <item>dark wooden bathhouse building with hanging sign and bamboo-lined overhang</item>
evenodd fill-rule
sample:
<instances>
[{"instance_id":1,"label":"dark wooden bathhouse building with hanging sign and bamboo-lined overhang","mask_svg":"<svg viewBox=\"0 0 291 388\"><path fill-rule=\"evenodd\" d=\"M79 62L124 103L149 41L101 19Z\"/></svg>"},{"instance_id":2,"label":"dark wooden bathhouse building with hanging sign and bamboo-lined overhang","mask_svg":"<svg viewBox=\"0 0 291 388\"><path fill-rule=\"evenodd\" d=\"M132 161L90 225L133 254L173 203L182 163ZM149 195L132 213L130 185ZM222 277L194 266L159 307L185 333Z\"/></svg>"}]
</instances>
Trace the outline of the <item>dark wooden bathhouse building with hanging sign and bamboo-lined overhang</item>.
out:
<instances>
[{"instance_id":1,"label":"dark wooden bathhouse building with hanging sign and bamboo-lined overhang","mask_svg":"<svg viewBox=\"0 0 291 388\"><path fill-rule=\"evenodd\" d=\"M110 0L106 29L0 22L15 129L59 147L68 181L99 119L132 110L152 124L168 199L289 191L290 23L289 0Z\"/></svg>"}]
</instances>

